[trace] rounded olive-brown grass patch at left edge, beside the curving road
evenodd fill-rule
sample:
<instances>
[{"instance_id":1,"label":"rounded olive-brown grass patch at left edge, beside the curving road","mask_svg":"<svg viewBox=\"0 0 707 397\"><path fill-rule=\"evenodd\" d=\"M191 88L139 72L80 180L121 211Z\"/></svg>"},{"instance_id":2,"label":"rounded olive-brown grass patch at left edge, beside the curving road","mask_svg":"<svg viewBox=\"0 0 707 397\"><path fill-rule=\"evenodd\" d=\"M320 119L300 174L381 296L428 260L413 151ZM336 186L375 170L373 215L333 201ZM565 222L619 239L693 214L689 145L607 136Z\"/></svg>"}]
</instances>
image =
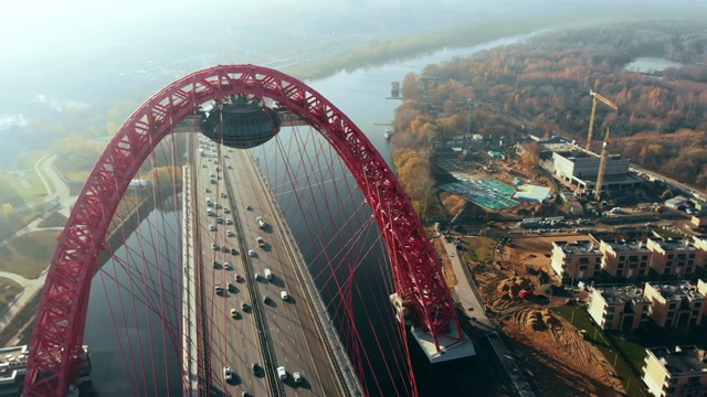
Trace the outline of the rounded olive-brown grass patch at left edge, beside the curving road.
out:
<instances>
[{"instance_id":1,"label":"rounded olive-brown grass patch at left edge, beside the curving road","mask_svg":"<svg viewBox=\"0 0 707 397\"><path fill-rule=\"evenodd\" d=\"M38 278L49 266L56 249L56 230L22 235L0 247L0 270L28 279Z\"/></svg>"}]
</instances>

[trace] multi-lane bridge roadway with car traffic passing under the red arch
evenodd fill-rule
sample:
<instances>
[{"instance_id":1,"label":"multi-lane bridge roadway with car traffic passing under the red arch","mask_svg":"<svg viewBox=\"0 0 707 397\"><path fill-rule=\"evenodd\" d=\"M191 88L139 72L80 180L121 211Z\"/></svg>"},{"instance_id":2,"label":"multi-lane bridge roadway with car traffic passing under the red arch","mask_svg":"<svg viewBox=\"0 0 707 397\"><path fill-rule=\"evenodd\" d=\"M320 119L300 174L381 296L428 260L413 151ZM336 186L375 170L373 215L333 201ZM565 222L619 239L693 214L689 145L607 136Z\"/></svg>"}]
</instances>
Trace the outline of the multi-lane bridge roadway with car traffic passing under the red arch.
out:
<instances>
[{"instance_id":1,"label":"multi-lane bridge roadway with car traffic passing under the red arch","mask_svg":"<svg viewBox=\"0 0 707 397\"><path fill-rule=\"evenodd\" d=\"M316 316L298 282L287 237L276 226L277 210L250 153L203 140L200 147L204 155L196 159L194 211L201 236L203 321L209 330L205 350L213 391L231 396L244 391L251 396L342 395L317 332ZM208 215L209 210L214 216ZM219 215L223 224L217 222ZM262 228L258 216L266 224ZM263 238L264 247L258 246L257 237ZM273 273L270 281L265 269ZM256 273L260 280L255 280ZM233 286L230 291L229 283ZM217 285L224 289L222 294L215 293ZM289 296L287 300L282 299L282 291ZM231 316L233 309L235 319ZM255 374L253 364L258 369ZM226 365L234 373L228 383L223 374ZM287 373L284 382L276 374L278 366ZM299 383L294 382L294 373L302 375Z\"/></svg>"}]
</instances>

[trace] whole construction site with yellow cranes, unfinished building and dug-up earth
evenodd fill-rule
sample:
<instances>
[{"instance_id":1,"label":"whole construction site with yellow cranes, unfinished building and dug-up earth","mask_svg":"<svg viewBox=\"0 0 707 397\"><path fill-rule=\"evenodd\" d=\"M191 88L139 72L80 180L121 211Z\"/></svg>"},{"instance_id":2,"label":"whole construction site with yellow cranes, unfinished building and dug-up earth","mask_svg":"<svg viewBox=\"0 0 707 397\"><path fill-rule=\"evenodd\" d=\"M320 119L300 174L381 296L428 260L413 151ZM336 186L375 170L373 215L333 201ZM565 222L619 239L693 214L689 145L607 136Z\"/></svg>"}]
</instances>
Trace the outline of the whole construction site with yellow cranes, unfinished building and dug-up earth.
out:
<instances>
[{"instance_id":1,"label":"whole construction site with yellow cranes, unfinished building and dug-up earth","mask_svg":"<svg viewBox=\"0 0 707 397\"><path fill-rule=\"evenodd\" d=\"M454 217L441 223L439 232L455 244L465 277L449 269L445 273L451 286L473 286L484 315L507 335L541 395L643 395L637 364L619 360L603 330L592 331L597 325L582 309L587 287L594 282L641 280L558 275L551 266L553 242L614 242L631 233L645 239L658 232L671 239L704 240L705 192L610 153L613 142L665 136L614 139L606 129L601 151L592 152L597 107L619 107L598 93L590 95L587 142L528 136L539 143L535 167L521 161L523 142L500 147L464 138L439 144L458 146L433 162L440 173L452 176L441 185L441 200ZM674 196L685 198L682 207L669 202ZM698 256L707 257L707 250ZM701 264L689 277L705 276ZM468 313L477 321L478 313Z\"/></svg>"}]
</instances>

